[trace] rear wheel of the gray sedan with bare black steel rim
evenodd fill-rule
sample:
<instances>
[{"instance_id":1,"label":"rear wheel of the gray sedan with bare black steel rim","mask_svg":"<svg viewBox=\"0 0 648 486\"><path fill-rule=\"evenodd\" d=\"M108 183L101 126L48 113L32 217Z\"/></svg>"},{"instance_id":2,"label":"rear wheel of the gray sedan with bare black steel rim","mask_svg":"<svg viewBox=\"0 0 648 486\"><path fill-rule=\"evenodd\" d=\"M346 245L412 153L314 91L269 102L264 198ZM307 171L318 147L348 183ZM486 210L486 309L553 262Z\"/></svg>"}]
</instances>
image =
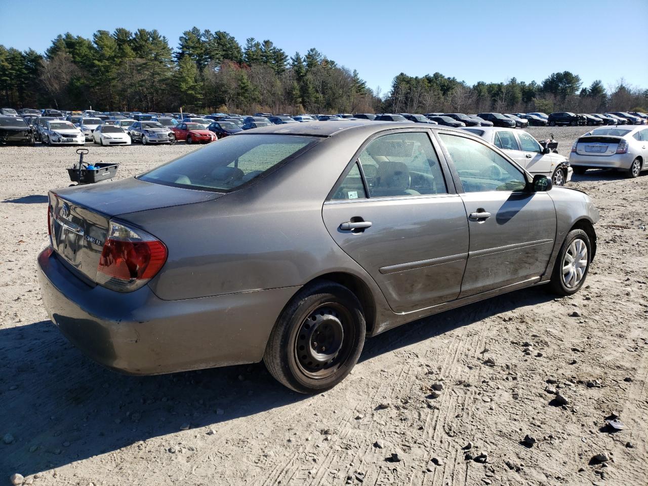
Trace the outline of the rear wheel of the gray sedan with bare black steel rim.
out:
<instances>
[{"instance_id":1,"label":"rear wheel of the gray sedan with bare black steel rim","mask_svg":"<svg viewBox=\"0 0 648 486\"><path fill-rule=\"evenodd\" d=\"M286 305L263 361L284 386L321 393L349 375L362 353L365 333L362 305L353 292L321 281L303 288Z\"/></svg>"}]
</instances>

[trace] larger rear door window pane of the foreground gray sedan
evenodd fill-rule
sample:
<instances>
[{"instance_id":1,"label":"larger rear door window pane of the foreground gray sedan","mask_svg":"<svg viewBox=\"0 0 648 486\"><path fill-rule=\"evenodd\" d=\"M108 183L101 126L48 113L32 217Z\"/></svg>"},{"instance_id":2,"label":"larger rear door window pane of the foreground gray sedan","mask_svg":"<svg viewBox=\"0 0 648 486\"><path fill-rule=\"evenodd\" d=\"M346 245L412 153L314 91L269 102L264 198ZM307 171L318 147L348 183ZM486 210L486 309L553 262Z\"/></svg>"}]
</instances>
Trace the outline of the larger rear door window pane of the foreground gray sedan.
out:
<instances>
[{"instance_id":1,"label":"larger rear door window pane of the foreground gray sedan","mask_svg":"<svg viewBox=\"0 0 648 486\"><path fill-rule=\"evenodd\" d=\"M369 197L446 194L445 179L425 132L383 135L358 157Z\"/></svg>"}]
</instances>

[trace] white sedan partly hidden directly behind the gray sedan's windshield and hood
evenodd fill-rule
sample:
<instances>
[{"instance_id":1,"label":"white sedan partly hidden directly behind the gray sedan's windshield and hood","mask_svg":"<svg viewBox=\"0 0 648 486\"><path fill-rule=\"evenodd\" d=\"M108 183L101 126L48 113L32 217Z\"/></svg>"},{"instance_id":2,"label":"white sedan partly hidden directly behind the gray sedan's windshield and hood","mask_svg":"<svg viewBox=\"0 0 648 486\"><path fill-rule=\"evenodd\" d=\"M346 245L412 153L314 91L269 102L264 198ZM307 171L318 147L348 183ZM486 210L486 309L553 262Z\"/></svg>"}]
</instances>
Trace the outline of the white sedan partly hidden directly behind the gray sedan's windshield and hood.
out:
<instances>
[{"instance_id":1,"label":"white sedan partly hidden directly behind the gray sedan's windshield and hood","mask_svg":"<svg viewBox=\"0 0 648 486\"><path fill-rule=\"evenodd\" d=\"M548 146L541 146L524 130L497 126L469 127L463 130L479 135L500 148L532 176L536 174L546 176L551 179L553 185L564 185L572 180L573 169L569 161L552 152Z\"/></svg>"}]
</instances>

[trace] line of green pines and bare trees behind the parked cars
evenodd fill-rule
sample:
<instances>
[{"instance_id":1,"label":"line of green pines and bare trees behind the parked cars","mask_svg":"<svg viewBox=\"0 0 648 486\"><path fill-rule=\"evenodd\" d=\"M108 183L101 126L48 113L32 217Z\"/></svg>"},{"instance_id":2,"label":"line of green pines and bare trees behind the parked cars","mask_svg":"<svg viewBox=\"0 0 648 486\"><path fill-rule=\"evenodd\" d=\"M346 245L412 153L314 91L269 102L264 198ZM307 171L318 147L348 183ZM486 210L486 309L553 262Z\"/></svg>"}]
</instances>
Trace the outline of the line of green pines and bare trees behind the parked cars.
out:
<instances>
[{"instance_id":1,"label":"line of green pines and bare trees behind the parked cars","mask_svg":"<svg viewBox=\"0 0 648 486\"><path fill-rule=\"evenodd\" d=\"M479 113L557 110L646 111L648 90L618 82L582 86L569 71L541 83L478 82L434 75L395 76L384 97L358 72L317 49L288 56L270 40L245 45L222 30L194 27L177 47L157 30L97 30L91 39L67 32L43 53L0 45L3 106L105 111L273 113Z\"/></svg>"}]
</instances>

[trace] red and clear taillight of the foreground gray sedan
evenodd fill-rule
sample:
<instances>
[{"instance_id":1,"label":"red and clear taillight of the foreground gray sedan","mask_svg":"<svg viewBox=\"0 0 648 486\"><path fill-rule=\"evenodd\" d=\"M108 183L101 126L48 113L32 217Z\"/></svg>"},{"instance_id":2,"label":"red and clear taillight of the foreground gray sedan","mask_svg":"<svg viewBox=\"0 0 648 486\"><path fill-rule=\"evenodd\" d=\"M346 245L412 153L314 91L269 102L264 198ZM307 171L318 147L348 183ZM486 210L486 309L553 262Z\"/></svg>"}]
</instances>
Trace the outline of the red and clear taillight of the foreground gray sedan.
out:
<instances>
[{"instance_id":1,"label":"red and clear taillight of the foreground gray sedan","mask_svg":"<svg viewBox=\"0 0 648 486\"><path fill-rule=\"evenodd\" d=\"M131 292L156 276L167 261L167 247L153 235L114 221L97 268L97 283Z\"/></svg>"}]
</instances>

